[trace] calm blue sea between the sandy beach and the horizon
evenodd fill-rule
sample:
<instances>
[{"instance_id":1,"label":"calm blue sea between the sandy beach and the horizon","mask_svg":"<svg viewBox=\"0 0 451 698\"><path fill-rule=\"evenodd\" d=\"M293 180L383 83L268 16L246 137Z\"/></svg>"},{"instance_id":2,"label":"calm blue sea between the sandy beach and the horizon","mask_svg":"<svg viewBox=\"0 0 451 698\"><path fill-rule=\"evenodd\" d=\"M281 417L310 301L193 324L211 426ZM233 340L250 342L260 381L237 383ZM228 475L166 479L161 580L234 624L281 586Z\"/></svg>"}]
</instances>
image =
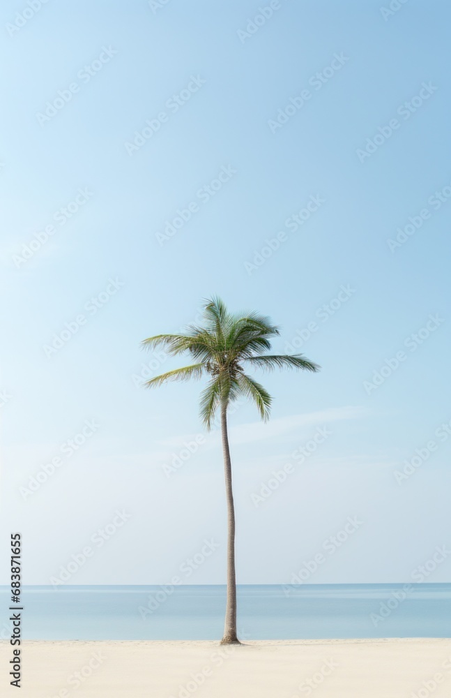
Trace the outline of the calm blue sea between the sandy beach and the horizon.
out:
<instances>
[{"instance_id":1,"label":"calm blue sea between the sandy beach and the horizon","mask_svg":"<svg viewBox=\"0 0 451 698\"><path fill-rule=\"evenodd\" d=\"M0 636L9 637L8 588ZM24 587L25 639L218 639L224 586ZM451 584L238 587L247 639L451 637Z\"/></svg>"}]
</instances>

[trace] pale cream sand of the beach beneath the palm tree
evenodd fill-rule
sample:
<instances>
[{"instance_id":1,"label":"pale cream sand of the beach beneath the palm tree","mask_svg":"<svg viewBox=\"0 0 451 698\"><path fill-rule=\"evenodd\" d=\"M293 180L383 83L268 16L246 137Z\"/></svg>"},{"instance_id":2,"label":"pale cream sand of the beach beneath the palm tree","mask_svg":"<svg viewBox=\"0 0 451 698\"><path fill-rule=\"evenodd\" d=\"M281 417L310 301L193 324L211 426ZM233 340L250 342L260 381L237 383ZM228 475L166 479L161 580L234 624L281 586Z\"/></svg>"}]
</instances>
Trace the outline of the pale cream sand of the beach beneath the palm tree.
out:
<instances>
[{"instance_id":1,"label":"pale cream sand of the beach beneath the palm tree","mask_svg":"<svg viewBox=\"0 0 451 698\"><path fill-rule=\"evenodd\" d=\"M22 646L20 693L8 685L10 650L1 642L2 697L451 696L448 639L249 641L231 649L194 641L30 641ZM433 678L437 674L440 679ZM307 679L312 688L303 683Z\"/></svg>"}]
</instances>

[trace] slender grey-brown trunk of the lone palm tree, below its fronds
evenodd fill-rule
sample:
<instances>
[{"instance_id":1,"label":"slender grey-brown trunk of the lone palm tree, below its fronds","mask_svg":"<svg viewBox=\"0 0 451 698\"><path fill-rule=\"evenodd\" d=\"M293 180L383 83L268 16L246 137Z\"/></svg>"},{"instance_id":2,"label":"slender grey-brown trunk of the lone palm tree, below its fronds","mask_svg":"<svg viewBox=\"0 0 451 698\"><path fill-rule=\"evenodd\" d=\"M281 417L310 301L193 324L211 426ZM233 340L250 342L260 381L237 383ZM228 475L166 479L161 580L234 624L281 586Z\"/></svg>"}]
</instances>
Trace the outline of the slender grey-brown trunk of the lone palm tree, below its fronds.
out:
<instances>
[{"instance_id":1,"label":"slender grey-brown trunk of the lone palm tree, below its fronds","mask_svg":"<svg viewBox=\"0 0 451 698\"><path fill-rule=\"evenodd\" d=\"M235 509L234 493L231 484L231 461L229 437L227 436L227 406L221 408L222 453L227 497L227 604L224 623L224 637L221 644L237 644L236 637L236 575L235 575Z\"/></svg>"}]
</instances>

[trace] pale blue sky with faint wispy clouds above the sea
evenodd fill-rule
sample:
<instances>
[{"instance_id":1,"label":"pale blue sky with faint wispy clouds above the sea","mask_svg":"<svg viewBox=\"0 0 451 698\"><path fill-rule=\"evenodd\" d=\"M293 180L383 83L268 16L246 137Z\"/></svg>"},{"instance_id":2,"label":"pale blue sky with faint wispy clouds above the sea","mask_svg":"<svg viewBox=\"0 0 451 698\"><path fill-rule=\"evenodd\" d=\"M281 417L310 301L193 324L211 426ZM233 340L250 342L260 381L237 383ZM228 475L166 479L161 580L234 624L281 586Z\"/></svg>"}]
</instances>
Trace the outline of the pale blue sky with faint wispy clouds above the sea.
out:
<instances>
[{"instance_id":1,"label":"pale blue sky with faint wispy clouds above the sea","mask_svg":"<svg viewBox=\"0 0 451 698\"><path fill-rule=\"evenodd\" d=\"M164 584L204 540L183 581L224 582L201 386L139 387L180 363L139 342L213 294L323 367L261 376L269 424L230 416L238 582L320 553L312 583L411 581L451 550L449 3L30 3L0 10L1 525L26 583L89 547L70 584Z\"/></svg>"}]
</instances>

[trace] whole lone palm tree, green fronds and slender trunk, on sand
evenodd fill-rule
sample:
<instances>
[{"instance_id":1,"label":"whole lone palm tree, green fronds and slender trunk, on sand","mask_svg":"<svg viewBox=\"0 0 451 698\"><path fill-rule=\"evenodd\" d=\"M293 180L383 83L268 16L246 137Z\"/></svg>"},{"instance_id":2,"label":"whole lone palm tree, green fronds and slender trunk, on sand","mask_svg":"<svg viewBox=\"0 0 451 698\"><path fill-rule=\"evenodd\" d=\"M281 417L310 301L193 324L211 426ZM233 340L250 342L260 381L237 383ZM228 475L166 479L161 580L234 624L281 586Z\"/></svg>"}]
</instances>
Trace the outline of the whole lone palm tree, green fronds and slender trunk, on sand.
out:
<instances>
[{"instance_id":1,"label":"whole lone palm tree, green fronds and slender trunk, on sand","mask_svg":"<svg viewBox=\"0 0 451 698\"><path fill-rule=\"evenodd\" d=\"M229 313L224 303L214 297L204 305L202 326L190 325L185 334L158 334L142 342L144 348L162 347L170 356L188 354L196 361L151 378L146 382L147 387L156 387L169 380L199 380L208 376L200 401L200 416L208 430L213 426L217 411L220 413L228 519L227 605L221 644L239 644L236 635L235 511L227 408L238 397L245 396L255 403L263 422L268 419L271 396L254 378L247 376L247 368L272 371L289 367L319 371L319 366L302 354L264 355L263 352L271 348L270 339L278 334L279 328L269 318L258 313Z\"/></svg>"}]
</instances>

